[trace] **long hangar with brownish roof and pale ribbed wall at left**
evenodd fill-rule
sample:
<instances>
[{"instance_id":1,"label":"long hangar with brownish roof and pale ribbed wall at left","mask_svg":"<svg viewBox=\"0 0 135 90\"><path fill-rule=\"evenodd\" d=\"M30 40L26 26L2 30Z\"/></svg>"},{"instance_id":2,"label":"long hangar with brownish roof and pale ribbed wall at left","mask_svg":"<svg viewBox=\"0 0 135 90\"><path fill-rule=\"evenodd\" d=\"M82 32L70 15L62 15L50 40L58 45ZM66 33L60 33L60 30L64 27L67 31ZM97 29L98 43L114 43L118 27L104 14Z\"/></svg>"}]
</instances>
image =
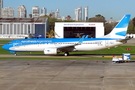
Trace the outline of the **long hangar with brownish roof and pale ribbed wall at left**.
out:
<instances>
[{"instance_id":1,"label":"long hangar with brownish roof and pale ribbed wall at left","mask_svg":"<svg viewBox=\"0 0 135 90\"><path fill-rule=\"evenodd\" d=\"M47 18L0 18L0 38L46 37Z\"/></svg>"}]
</instances>

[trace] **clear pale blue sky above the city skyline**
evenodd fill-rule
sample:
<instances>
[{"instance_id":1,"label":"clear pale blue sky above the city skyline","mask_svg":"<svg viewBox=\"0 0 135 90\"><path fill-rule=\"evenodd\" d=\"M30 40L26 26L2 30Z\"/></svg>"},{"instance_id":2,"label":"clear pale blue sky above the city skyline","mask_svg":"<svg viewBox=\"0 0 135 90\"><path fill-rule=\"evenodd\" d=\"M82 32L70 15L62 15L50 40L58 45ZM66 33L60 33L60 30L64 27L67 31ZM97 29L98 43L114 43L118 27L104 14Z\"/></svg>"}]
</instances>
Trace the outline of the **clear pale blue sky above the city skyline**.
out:
<instances>
[{"instance_id":1,"label":"clear pale blue sky above the city skyline","mask_svg":"<svg viewBox=\"0 0 135 90\"><path fill-rule=\"evenodd\" d=\"M79 6L89 7L89 18L101 14L106 20L111 17L113 20L120 20L125 14L131 14L131 18L135 17L135 0L3 0L3 7L12 7L15 9L17 16L17 8L24 5L27 14L32 13L33 6L39 6L40 9L45 7L47 13L60 10L60 16L70 15L75 18L75 9ZM28 16L28 15L27 15Z\"/></svg>"}]
</instances>

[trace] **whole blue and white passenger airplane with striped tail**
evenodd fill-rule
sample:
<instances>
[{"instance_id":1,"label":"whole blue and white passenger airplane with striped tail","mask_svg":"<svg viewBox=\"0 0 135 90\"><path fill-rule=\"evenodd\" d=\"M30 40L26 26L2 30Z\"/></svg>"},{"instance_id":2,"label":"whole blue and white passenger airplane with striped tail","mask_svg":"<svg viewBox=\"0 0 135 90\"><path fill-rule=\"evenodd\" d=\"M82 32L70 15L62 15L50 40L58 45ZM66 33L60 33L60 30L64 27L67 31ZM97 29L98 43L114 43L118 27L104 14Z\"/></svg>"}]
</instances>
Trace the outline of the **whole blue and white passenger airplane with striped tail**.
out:
<instances>
[{"instance_id":1,"label":"whole blue and white passenger airplane with striped tail","mask_svg":"<svg viewBox=\"0 0 135 90\"><path fill-rule=\"evenodd\" d=\"M126 14L114 29L107 35L100 38L53 38L53 39L19 39L8 42L2 46L3 49L16 52L42 51L46 55L56 55L65 52L68 56L73 51L95 51L107 49L124 44L129 40L126 38L127 27L130 21L130 14Z\"/></svg>"}]
</instances>

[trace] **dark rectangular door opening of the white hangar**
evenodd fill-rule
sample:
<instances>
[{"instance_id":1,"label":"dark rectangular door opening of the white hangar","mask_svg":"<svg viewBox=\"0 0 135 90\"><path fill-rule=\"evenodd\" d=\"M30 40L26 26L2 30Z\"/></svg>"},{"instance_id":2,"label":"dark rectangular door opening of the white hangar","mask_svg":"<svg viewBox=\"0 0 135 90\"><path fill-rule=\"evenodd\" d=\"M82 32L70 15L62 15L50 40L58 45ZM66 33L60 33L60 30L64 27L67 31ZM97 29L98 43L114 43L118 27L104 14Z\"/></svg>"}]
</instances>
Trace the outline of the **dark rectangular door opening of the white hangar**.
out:
<instances>
[{"instance_id":1,"label":"dark rectangular door opening of the white hangar","mask_svg":"<svg viewBox=\"0 0 135 90\"><path fill-rule=\"evenodd\" d=\"M96 27L64 27L64 38L81 38L88 35L95 38Z\"/></svg>"}]
</instances>

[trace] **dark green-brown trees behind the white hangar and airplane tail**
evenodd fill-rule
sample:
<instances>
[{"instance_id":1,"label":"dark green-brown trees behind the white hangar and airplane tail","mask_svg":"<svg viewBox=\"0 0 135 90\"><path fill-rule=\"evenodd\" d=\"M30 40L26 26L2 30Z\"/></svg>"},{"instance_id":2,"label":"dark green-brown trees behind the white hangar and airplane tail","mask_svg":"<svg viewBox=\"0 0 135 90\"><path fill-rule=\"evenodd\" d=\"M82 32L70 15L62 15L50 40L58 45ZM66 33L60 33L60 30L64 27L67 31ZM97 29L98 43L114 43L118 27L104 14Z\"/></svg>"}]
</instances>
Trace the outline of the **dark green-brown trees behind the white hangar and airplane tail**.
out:
<instances>
[{"instance_id":1,"label":"dark green-brown trees behind the white hangar and airplane tail","mask_svg":"<svg viewBox=\"0 0 135 90\"><path fill-rule=\"evenodd\" d=\"M54 30L55 22L81 22L81 21L75 21L75 20L61 20L51 17L50 15L42 16L41 18L48 18L49 20L49 31ZM83 21L84 22L84 21ZM98 14L95 15L95 17L89 18L86 22L103 22L105 27L105 35L110 33L112 29L116 26L118 22L107 22L105 17ZM128 26L128 34L135 34L135 17L130 20L129 26Z\"/></svg>"}]
</instances>

